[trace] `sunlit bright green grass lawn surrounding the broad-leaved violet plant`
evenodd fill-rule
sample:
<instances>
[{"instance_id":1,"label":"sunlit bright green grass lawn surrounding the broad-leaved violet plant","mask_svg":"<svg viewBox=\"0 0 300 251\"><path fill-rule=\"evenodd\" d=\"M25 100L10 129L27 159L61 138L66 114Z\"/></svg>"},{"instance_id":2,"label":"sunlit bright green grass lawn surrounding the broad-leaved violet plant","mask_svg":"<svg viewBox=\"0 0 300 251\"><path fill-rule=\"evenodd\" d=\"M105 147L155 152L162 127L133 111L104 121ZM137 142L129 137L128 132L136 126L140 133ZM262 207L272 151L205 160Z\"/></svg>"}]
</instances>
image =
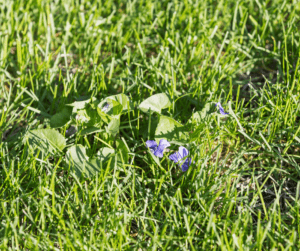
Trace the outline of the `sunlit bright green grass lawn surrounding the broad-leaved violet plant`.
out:
<instances>
[{"instance_id":1,"label":"sunlit bright green grass lawn surrounding the broad-leaved violet plant","mask_svg":"<svg viewBox=\"0 0 300 251\"><path fill-rule=\"evenodd\" d=\"M297 1L4 0L0 6L1 250L299 250ZM78 178L26 132L85 97L166 93L195 161L158 165L150 117L122 115L129 162ZM69 124L57 129L65 135ZM152 126L149 128L149 126ZM152 128L152 129L151 129ZM100 139L100 140L99 140ZM67 138L89 156L103 133ZM172 144L170 151L178 149Z\"/></svg>"}]
</instances>

